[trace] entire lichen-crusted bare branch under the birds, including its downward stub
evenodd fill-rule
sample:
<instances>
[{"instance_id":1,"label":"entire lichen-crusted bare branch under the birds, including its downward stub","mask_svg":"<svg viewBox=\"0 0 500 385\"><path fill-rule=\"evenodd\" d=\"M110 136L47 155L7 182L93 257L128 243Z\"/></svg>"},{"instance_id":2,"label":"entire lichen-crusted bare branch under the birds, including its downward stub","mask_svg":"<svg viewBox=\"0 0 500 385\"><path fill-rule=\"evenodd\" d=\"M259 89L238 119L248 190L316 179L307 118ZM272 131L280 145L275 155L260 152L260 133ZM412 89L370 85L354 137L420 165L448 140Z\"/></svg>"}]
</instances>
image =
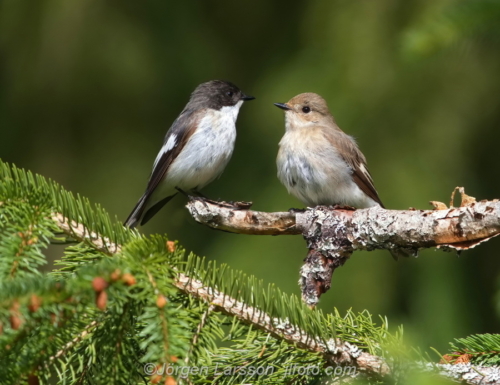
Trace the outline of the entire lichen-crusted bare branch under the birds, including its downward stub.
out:
<instances>
[{"instance_id":1,"label":"entire lichen-crusted bare branch under the birds, including its downward stub","mask_svg":"<svg viewBox=\"0 0 500 385\"><path fill-rule=\"evenodd\" d=\"M462 194L460 207L431 202L434 210L354 210L318 206L303 211L265 213L225 202L191 200L193 218L214 229L253 235L298 235L309 254L301 269L302 298L315 306L330 288L335 269L355 250L387 249L395 255L417 255L430 247L467 250L500 234L500 202L476 202ZM452 203L454 193L452 194Z\"/></svg>"}]
</instances>

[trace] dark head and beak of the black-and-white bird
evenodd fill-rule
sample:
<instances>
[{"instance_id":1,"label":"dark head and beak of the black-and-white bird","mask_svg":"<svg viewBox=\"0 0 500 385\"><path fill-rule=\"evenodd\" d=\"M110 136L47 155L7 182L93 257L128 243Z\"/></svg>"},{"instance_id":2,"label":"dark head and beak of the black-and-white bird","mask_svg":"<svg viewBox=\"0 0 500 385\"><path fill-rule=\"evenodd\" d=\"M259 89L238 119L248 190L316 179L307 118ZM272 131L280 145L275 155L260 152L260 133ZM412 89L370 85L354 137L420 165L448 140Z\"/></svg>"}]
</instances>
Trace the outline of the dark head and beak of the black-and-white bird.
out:
<instances>
[{"instance_id":1,"label":"dark head and beak of the black-and-white bird","mask_svg":"<svg viewBox=\"0 0 500 385\"><path fill-rule=\"evenodd\" d=\"M188 105L194 109L211 108L220 110L223 107L239 107L246 100L255 99L244 94L233 83L224 80L211 80L200 84L191 94Z\"/></svg>"}]
</instances>

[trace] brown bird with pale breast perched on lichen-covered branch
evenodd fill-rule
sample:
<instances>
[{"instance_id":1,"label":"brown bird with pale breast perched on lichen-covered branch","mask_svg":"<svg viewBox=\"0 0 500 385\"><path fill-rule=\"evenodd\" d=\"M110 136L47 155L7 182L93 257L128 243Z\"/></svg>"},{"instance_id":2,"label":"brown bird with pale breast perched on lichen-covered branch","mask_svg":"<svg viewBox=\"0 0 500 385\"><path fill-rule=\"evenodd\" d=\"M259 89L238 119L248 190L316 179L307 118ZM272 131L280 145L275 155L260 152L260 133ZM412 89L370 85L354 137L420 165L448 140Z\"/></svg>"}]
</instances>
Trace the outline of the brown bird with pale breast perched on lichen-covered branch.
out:
<instances>
[{"instance_id":1,"label":"brown bird with pale breast perched on lichen-covered branch","mask_svg":"<svg viewBox=\"0 0 500 385\"><path fill-rule=\"evenodd\" d=\"M311 207L384 207L365 156L337 126L325 99L308 92L275 105L285 111L286 126L276 160L278 178L290 194Z\"/></svg>"}]
</instances>

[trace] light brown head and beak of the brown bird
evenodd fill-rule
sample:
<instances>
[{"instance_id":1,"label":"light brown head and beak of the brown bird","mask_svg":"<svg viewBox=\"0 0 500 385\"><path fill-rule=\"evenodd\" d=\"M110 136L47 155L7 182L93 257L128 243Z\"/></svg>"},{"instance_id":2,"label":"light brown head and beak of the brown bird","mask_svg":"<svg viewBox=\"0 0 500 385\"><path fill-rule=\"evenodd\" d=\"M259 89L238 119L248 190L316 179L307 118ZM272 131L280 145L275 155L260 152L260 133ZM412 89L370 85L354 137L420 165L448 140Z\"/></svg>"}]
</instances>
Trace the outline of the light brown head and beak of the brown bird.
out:
<instances>
[{"instance_id":1,"label":"light brown head and beak of the brown bird","mask_svg":"<svg viewBox=\"0 0 500 385\"><path fill-rule=\"evenodd\" d=\"M274 105L285 111L287 129L334 122L325 99L313 92L299 94L287 103Z\"/></svg>"}]
</instances>

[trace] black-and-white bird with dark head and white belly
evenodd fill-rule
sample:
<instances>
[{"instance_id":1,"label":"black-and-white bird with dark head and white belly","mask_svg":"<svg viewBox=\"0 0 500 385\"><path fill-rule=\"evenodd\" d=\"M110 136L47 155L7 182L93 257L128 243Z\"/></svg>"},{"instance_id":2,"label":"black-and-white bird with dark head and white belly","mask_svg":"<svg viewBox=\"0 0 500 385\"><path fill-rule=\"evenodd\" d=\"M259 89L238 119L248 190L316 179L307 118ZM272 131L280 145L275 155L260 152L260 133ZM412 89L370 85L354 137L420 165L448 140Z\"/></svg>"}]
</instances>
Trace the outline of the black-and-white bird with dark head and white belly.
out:
<instances>
[{"instance_id":1,"label":"black-and-white bird with dark head and white belly","mask_svg":"<svg viewBox=\"0 0 500 385\"><path fill-rule=\"evenodd\" d=\"M144 225L179 190L196 195L219 177L233 154L240 107L252 99L253 96L222 80L196 87L168 130L146 191L125 226Z\"/></svg>"}]
</instances>

